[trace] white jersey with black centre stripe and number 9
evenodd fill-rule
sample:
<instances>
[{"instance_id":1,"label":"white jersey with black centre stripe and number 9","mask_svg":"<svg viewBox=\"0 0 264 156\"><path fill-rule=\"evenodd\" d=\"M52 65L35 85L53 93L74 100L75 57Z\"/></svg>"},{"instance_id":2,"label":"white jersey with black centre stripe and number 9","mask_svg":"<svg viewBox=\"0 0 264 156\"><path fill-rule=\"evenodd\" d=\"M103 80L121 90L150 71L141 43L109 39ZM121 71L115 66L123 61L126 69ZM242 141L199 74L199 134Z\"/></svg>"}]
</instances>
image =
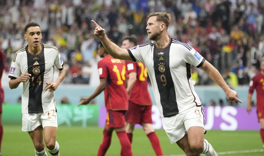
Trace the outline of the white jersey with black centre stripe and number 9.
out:
<instances>
[{"instance_id":1,"label":"white jersey with black centre stripe and number 9","mask_svg":"<svg viewBox=\"0 0 264 156\"><path fill-rule=\"evenodd\" d=\"M146 65L162 117L201 106L191 83L191 65L199 68L205 59L189 44L170 38L170 43L163 49L150 41L128 51L134 62Z\"/></svg>"}]
</instances>

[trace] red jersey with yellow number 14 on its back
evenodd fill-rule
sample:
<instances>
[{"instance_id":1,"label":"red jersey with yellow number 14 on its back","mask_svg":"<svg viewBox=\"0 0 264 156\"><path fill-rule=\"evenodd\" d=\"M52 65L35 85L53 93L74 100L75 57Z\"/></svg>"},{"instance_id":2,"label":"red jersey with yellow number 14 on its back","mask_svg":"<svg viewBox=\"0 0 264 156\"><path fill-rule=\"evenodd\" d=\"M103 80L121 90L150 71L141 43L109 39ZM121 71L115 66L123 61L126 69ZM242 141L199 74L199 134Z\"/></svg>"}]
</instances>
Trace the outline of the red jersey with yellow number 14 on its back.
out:
<instances>
[{"instance_id":1,"label":"red jersey with yellow number 14 on its back","mask_svg":"<svg viewBox=\"0 0 264 156\"><path fill-rule=\"evenodd\" d=\"M107 79L104 90L106 110L128 110L125 62L108 55L98 62L99 77Z\"/></svg>"}]
</instances>

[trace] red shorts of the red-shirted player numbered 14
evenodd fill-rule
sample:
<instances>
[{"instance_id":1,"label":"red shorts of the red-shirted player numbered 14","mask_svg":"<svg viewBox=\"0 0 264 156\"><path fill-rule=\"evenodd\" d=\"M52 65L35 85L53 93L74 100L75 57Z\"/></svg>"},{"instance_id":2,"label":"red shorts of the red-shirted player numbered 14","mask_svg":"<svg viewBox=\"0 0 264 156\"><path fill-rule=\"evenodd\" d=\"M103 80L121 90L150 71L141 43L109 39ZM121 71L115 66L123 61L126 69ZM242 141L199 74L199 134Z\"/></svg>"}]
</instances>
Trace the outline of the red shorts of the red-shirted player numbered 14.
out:
<instances>
[{"instance_id":1,"label":"red shorts of the red-shirted player numbered 14","mask_svg":"<svg viewBox=\"0 0 264 156\"><path fill-rule=\"evenodd\" d=\"M125 127L126 110L107 110L106 124L107 127L122 128Z\"/></svg>"}]
</instances>

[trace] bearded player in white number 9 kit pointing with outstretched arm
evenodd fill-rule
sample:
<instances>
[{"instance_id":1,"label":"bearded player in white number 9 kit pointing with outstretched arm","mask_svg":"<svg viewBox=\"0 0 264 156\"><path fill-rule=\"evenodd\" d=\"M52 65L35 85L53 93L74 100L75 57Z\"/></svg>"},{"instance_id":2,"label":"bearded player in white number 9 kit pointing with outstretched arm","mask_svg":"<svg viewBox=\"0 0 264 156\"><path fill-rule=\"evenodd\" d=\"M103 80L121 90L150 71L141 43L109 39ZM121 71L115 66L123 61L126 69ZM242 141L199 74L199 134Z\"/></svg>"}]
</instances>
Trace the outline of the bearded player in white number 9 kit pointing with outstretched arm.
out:
<instances>
[{"instance_id":1,"label":"bearded player in white number 9 kit pointing with outstretched arm","mask_svg":"<svg viewBox=\"0 0 264 156\"><path fill-rule=\"evenodd\" d=\"M114 58L142 62L148 69L163 128L171 143L176 142L186 155L217 155L204 139L204 108L191 83L191 65L201 68L225 92L228 100L239 100L216 68L189 44L168 37L171 14L148 15L148 43L122 49L95 21L94 35Z\"/></svg>"}]
</instances>

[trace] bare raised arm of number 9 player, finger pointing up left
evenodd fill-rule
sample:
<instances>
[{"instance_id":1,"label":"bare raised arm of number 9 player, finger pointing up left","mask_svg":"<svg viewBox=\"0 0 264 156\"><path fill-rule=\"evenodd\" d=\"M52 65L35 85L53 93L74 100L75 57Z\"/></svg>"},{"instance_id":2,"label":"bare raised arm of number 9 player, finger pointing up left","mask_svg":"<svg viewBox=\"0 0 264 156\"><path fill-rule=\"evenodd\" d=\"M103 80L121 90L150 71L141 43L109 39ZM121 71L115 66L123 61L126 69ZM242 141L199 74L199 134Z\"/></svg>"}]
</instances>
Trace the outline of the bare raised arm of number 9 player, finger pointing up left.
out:
<instances>
[{"instance_id":1,"label":"bare raised arm of number 9 player, finger pointing up left","mask_svg":"<svg viewBox=\"0 0 264 156\"><path fill-rule=\"evenodd\" d=\"M106 51L113 56L116 59L122 59L122 60L131 60L132 58L130 57L127 49L122 49L119 46L117 46L115 43L113 43L107 36L105 29L100 27L95 21L93 21L93 24L96 26L94 30L94 35L99 38L103 46L105 47Z\"/></svg>"}]
</instances>

